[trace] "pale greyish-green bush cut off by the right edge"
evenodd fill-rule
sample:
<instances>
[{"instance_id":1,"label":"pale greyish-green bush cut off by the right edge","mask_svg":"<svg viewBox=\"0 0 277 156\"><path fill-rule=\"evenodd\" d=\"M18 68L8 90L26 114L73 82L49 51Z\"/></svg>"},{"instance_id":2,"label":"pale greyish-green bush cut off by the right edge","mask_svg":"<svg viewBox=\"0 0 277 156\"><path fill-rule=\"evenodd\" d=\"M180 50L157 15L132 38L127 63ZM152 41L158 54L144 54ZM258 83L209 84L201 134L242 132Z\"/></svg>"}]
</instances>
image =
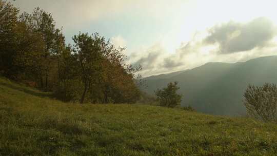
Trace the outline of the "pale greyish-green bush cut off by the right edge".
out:
<instances>
[{"instance_id":1,"label":"pale greyish-green bush cut off by the right edge","mask_svg":"<svg viewBox=\"0 0 277 156\"><path fill-rule=\"evenodd\" d=\"M264 84L261 87L249 85L244 93L244 105L248 113L265 122L277 120L277 87Z\"/></svg>"}]
</instances>

